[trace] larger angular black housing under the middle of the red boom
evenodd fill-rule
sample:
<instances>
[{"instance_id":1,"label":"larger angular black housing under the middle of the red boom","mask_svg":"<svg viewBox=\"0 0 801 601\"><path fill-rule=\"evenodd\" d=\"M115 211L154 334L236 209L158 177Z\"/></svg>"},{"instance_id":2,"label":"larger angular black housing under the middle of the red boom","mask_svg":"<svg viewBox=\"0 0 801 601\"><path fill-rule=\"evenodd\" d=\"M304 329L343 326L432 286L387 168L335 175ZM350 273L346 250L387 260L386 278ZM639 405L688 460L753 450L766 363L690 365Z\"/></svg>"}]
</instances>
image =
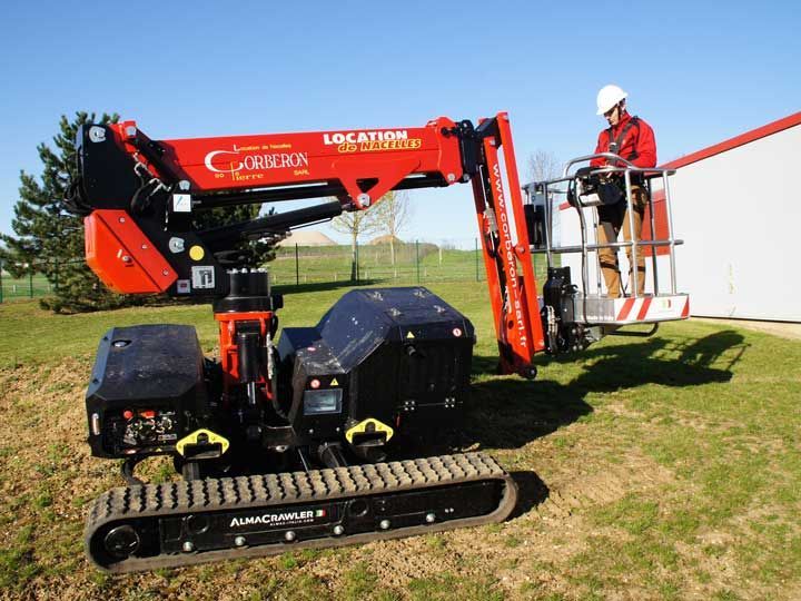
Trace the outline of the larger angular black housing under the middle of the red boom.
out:
<instances>
[{"instance_id":1,"label":"larger angular black housing under the middle of the red boom","mask_svg":"<svg viewBox=\"0 0 801 601\"><path fill-rule=\"evenodd\" d=\"M469 319L426 288L352 290L316 327L283 331L293 427L304 437L368 417L409 430L454 422L474 344Z\"/></svg>"}]
</instances>

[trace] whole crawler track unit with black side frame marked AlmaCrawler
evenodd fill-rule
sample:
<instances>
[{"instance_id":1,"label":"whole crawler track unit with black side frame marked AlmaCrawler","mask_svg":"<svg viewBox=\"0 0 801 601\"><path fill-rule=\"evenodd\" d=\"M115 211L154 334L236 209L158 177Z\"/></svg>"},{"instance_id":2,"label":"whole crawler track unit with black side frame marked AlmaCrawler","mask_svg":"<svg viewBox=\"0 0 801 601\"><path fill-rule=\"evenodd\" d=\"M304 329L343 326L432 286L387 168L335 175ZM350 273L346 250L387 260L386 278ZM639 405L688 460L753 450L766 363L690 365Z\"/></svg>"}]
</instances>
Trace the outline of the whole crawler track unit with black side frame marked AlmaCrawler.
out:
<instances>
[{"instance_id":1,"label":"whole crawler track unit with black side frame marked AlmaCrawler","mask_svg":"<svg viewBox=\"0 0 801 601\"><path fill-rule=\"evenodd\" d=\"M110 572L259 558L505 520L514 481L481 453L112 489L86 525Z\"/></svg>"}]
</instances>

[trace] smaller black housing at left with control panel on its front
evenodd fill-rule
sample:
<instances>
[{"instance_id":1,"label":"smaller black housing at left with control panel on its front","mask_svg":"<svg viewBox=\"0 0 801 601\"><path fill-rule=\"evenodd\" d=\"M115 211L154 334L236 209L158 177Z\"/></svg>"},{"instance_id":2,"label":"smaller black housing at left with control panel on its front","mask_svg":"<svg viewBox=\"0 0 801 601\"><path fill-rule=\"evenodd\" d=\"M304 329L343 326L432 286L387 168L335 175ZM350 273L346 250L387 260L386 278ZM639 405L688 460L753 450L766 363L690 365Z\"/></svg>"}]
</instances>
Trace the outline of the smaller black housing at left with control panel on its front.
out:
<instances>
[{"instance_id":1,"label":"smaller black housing at left with control panel on its front","mask_svg":"<svg viewBox=\"0 0 801 601\"><path fill-rule=\"evenodd\" d=\"M98 347L86 406L92 455L171 453L207 413L195 328L115 327Z\"/></svg>"}]
</instances>

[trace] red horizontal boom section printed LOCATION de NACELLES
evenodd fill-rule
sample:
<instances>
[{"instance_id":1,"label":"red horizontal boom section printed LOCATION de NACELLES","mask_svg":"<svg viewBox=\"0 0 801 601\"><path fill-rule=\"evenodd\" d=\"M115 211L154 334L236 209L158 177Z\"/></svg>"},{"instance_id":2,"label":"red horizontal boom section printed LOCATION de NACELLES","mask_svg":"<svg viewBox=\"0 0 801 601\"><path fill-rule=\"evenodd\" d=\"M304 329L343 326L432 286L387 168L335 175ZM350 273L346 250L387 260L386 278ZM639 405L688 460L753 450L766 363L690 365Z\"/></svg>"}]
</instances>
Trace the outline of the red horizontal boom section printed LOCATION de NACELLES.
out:
<instances>
[{"instance_id":1,"label":"red horizontal boom section printed LOCATION de NACELLES","mask_svg":"<svg viewBox=\"0 0 801 601\"><path fill-rule=\"evenodd\" d=\"M366 208L412 174L439 174L448 184L456 183L462 176L458 140L443 135L454 126L439 117L425 127L191 138L159 140L159 145L166 150L165 162L194 190L337 180L358 208ZM126 150L147 165L131 144L136 122L112 127ZM151 165L148 168L155 176L165 175ZM364 190L357 180L375 181Z\"/></svg>"}]
</instances>

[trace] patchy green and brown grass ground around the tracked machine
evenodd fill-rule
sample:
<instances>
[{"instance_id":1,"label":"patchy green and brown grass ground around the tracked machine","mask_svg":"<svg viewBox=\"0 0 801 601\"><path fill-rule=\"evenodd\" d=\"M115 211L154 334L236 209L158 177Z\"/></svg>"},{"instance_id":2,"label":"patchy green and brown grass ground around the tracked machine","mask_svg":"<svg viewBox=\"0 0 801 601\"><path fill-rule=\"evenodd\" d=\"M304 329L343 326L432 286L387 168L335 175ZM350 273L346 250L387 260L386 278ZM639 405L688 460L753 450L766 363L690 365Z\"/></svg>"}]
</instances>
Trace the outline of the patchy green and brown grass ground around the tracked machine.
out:
<instances>
[{"instance_id":1,"label":"patchy green and brown grass ground around the tracked machine","mask_svg":"<svg viewBox=\"0 0 801 601\"><path fill-rule=\"evenodd\" d=\"M53 316L0 306L0 598L801 599L801 342L700 322L609 337L494 375L484 284L429 286L478 344L464 447L521 503L477 530L110 578L81 549L87 503L120 484L89 456L83 388L112 325L178 322L212 352L206 306ZM347 288L287 294L284 325ZM165 464L146 466L154 479Z\"/></svg>"}]
</instances>

